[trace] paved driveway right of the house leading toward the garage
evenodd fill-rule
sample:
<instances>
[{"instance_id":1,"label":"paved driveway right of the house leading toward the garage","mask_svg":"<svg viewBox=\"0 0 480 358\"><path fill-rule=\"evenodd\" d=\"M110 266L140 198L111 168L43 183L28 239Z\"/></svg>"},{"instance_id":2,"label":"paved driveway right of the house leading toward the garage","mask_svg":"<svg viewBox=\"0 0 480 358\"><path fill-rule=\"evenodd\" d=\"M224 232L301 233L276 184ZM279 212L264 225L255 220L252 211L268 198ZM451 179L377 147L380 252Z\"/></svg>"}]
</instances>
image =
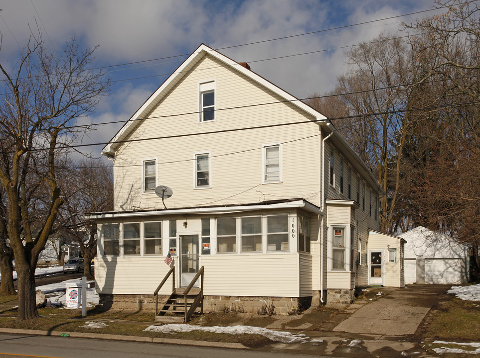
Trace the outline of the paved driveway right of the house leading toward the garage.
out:
<instances>
[{"instance_id":1,"label":"paved driveway right of the house leading toward the garage","mask_svg":"<svg viewBox=\"0 0 480 358\"><path fill-rule=\"evenodd\" d=\"M452 285L408 285L366 304L333 332L404 336L414 334L432 306Z\"/></svg>"}]
</instances>

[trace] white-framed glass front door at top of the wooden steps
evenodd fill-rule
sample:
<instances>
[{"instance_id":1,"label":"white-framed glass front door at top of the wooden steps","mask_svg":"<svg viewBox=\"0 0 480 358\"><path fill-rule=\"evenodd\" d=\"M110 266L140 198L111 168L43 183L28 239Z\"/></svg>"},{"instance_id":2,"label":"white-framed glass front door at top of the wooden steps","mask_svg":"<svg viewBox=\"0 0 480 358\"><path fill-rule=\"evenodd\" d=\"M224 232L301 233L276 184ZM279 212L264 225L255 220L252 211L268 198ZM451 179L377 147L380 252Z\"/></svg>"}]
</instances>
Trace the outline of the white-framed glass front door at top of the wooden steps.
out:
<instances>
[{"instance_id":1,"label":"white-framed glass front door at top of the wooden steps","mask_svg":"<svg viewBox=\"0 0 480 358\"><path fill-rule=\"evenodd\" d=\"M190 284L199 268L198 235L180 235L180 286ZM197 284L195 284L197 286Z\"/></svg>"}]
</instances>

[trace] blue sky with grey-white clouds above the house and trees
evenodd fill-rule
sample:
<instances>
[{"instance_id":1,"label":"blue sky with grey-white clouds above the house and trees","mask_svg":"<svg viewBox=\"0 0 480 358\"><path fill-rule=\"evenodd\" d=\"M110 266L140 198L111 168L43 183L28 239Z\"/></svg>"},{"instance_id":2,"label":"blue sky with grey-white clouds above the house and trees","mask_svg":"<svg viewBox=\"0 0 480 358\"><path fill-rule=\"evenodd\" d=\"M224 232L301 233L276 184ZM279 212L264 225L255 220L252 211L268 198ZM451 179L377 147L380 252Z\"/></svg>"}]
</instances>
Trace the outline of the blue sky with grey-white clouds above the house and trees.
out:
<instances>
[{"instance_id":1,"label":"blue sky with grey-white clouds above the house and trees","mask_svg":"<svg viewBox=\"0 0 480 358\"><path fill-rule=\"evenodd\" d=\"M108 70L114 81L95 114L81 122L127 120L198 45L220 49L257 41L362 23L434 7L433 0L0 0L0 61L18 59L29 35L28 24L41 28L52 51L76 37L85 47L99 45L95 66ZM380 32L399 33L402 21L439 11L347 27L282 40L220 50L291 94L333 89L336 77L347 72L345 47L368 42ZM310 55L274 57L327 50ZM261 61L267 60L267 61ZM258 61L258 62L257 62ZM149 77L146 79L136 79ZM121 124L100 126L84 143L109 141ZM89 148L99 155L103 146Z\"/></svg>"}]
</instances>

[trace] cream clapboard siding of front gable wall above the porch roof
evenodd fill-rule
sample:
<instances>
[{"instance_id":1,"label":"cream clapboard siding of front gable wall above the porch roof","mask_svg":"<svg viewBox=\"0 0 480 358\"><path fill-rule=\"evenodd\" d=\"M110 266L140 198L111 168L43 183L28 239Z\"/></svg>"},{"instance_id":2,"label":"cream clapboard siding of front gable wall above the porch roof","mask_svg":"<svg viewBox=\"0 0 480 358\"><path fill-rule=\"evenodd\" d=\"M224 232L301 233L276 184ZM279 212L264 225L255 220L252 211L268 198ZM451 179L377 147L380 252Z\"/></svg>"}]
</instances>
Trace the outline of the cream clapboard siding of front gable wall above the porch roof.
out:
<instances>
[{"instance_id":1,"label":"cream clapboard siding of front gable wall above the porch roof","mask_svg":"<svg viewBox=\"0 0 480 358\"><path fill-rule=\"evenodd\" d=\"M198 123L198 84L216 81L216 121ZM238 95L232 95L232 92ZM115 210L161 207L155 193L142 193L142 161L158 160L158 184L173 189L168 208L265 199L309 197L320 204L320 130L314 118L290 103L221 110L279 101L276 94L210 56L201 60L131 134L129 139L222 131L307 121L289 126L125 143L115 159ZM190 113L171 116L178 113ZM310 137L310 138L308 138ZM262 146L283 143L283 182L262 184ZM193 153L212 156L211 189L193 189ZM232 196L232 194L236 194ZM174 200L173 200L174 198ZM220 200L220 201L219 201Z\"/></svg>"}]
</instances>

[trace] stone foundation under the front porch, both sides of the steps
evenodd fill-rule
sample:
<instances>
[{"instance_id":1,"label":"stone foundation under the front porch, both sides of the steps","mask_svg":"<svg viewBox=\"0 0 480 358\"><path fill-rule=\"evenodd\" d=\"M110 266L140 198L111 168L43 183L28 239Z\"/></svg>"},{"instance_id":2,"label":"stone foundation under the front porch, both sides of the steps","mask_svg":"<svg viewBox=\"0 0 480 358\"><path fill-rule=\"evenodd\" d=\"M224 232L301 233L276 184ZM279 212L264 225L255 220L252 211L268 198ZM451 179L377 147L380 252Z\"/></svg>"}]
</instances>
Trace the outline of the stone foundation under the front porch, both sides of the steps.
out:
<instances>
[{"instance_id":1,"label":"stone foundation under the front porch, both sides of the steps","mask_svg":"<svg viewBox=\"0 0 480 358\"><path fill-rule=\"evenodd\" d=\"M159 296L160 306L168 296ZM105 309L130 309L155 312L154 295L99 294L99 303ZM312 297L250 297L250 296L204 296L203 312L236 312L256 314L295 313L309 308Z\"/></svg>"}]
</instances>

